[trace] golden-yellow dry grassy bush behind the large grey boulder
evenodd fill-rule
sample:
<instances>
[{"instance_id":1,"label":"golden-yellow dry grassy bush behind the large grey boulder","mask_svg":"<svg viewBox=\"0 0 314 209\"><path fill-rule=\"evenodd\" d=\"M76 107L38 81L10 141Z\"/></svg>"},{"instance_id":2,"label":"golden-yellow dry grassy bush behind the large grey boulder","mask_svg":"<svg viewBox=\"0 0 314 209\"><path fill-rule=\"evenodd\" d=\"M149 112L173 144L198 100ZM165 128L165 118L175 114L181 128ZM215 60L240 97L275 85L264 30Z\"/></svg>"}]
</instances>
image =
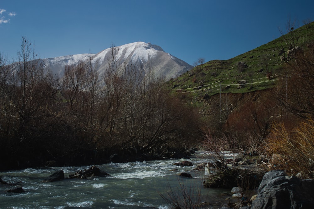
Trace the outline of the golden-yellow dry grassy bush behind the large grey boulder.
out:
<instances>
[{"instance_id":1,"label":"golden-yellow dry grassy bush behind the large grey boulder","mask_svg":"<svg viewBox=\"0 0 314 209\"><path fill-rule=\"evenodd\" d=\"M274 124L268 139L268 152L279 153L274 160L275 168L283 168L287 173L301 172L303 177L314 177L314 121L307 119L294 129L286 129L284 124Z\"/></svg>"}]
</instances>

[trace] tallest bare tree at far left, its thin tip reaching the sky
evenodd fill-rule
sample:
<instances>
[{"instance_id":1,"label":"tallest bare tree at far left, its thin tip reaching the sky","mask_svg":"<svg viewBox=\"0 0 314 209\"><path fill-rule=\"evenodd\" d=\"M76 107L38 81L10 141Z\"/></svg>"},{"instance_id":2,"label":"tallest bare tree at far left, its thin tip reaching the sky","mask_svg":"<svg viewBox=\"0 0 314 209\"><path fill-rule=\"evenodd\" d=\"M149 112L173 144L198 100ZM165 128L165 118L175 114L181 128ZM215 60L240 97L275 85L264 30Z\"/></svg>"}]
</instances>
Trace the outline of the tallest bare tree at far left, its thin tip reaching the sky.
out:
<instances>
[{"instance_id":1,"label":"tallest bare tree at far left, its thin tip reaching the sky","mask_svg":"<svg viewBox=\"0 0 314 209\"><path fill-rule=\"evenodd\" d=\"M34 46L22 37L21 50L18 52L18 61L14 63L10 86L12 106L9 108L14 118L18 118L16 131L25 136L27 125L30 121L39 120L46 115L46 106L51 104L56 89L56 80L44 66L41 59L37 58ZM13 108L12 108L13 107Z\"/></svg>"}]
</instances>

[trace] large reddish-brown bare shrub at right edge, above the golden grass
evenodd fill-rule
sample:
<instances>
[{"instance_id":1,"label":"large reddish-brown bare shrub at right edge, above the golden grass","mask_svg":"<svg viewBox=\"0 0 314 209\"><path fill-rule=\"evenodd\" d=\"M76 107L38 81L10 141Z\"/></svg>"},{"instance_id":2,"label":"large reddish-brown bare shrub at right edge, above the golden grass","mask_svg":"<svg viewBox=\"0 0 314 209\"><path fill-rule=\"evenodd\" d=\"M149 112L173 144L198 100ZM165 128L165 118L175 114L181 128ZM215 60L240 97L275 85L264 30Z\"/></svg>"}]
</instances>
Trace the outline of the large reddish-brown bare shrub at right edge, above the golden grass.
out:
<instances>
[{"instance_id":1,"label":"large reddish-brown bare shrub at right edge, above the golden grass","mask_svg":"<svg viewBox=\"0 0 314 209\"><path fill-rule=\"evenodd\" d=\"M285 65L286 78L279 80L274 94L288 113L300 118L314 115L314 44L294 50Z\"/></svg>"}]
</instances>

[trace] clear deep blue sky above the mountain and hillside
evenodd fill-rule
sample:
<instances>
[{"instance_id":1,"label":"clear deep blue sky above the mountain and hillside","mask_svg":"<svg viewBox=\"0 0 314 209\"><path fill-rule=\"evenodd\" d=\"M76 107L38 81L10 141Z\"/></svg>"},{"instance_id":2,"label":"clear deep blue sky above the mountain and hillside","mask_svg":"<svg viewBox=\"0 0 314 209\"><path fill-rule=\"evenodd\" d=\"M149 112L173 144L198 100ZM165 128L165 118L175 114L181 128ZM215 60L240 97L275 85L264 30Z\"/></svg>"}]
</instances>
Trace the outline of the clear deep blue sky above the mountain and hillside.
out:
<instances>
[{"instance_id":1,"label":"clear deep blue sky above the mountain and hillside","mask_svg":"<svg viewBox=\"0 0 314 209\"><path fill-rule=\"evenodd\" d=\"M55 0L0 2L0 52L16 60L22 36L40 58L98 53L136 41L193 64L233 58L314 21L314 1Z\"/></svg>"}]
</instances>

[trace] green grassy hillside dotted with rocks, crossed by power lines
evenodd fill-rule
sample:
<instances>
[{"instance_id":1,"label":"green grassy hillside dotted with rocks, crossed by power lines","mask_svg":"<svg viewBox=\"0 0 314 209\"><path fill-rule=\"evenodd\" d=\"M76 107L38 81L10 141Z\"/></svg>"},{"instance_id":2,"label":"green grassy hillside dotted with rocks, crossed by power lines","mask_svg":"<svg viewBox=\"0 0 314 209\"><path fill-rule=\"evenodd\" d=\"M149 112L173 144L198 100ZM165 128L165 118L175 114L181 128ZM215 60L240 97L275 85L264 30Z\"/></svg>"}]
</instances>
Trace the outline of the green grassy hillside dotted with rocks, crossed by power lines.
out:
<instances>
[{"instance_id":1,"label":"green grassy hillside dotted with rocks, crossed by power lines","mask_svg":"<svg viewBox=\"0 0 314 209\"><path fill-rule=\"evenodd\" d=\"M198 97L217 93L245 93L273 87L285 77L288 50L314 40L314 22L229 60L212 60L166 83L171 93ZM291 59L291 58L290 58Z\"/></svg>"}]
</instances>

